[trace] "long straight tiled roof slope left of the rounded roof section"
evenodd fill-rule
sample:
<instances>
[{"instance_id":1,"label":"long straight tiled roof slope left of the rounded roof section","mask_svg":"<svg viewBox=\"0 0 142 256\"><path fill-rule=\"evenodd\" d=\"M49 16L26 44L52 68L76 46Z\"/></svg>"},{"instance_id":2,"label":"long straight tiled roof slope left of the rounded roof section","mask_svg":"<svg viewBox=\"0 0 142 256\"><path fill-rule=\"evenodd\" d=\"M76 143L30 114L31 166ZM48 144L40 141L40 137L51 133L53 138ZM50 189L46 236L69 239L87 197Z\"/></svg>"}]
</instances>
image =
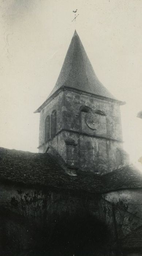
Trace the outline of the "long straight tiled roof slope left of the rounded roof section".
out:
<instances>
[{"instance_id":1,"label":"long straight tiled roof slope left of the rounded roof section","mask_svg":"<svg viewBox=\"0 0 142 256\"><path fill-rule=\"evenodd\" d=\"M6 148L0 148L0 181L92 193L102 188L100 176L80 171L69 176L49 154Z\"/></svg>"}]
</instances>

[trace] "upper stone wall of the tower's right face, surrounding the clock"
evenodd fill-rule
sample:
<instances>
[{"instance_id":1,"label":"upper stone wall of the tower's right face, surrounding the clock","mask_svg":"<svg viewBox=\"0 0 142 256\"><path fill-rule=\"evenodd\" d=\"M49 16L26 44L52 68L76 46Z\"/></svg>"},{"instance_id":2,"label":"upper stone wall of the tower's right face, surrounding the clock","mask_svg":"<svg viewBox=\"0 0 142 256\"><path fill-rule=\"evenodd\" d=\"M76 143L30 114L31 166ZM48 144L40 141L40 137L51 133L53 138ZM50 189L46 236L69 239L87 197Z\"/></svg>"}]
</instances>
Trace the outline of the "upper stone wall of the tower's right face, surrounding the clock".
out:
<instances>
[{"instance_id":1,"label":"upper stone wall of the tower's right face, surrounding the clock","mask_svg":"<svg viewBox=\"0 0 142 256\"><path fill-rule=\"evenodd\" d=\"M88 133L89 135L122 140L120 106L118 103L108 100L105 101L93 95L87 95L87 93L66 90L63 104L66 109L62 112L64 129L72 129L73 131ZM94 114L96 110L104 112L106 116L106 132L102 131L101 133L101 131L99 131L100 129L93 130L85 124L82 130L80 110L83 106L90 108L92 114Z\"/></svg>"}]
</instances>

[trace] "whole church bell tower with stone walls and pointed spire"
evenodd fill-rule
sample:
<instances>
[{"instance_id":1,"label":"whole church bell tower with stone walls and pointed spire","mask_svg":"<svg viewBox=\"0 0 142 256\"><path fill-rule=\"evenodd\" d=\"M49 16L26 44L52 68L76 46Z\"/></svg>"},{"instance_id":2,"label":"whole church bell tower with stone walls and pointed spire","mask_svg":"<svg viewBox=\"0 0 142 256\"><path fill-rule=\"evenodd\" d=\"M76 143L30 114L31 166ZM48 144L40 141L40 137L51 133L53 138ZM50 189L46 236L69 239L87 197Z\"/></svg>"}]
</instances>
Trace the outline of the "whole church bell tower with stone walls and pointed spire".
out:
<instances>
[{"instance_id":1,"label":"whole church bell tower with stone walls and pointed spire","mask_svg":"<svg viewBox=\"0 0 142 256\"><path fill-rule=\"evenodd\" d=\"M98 80L74 32L55 87L40 112L39 153L50 151L69 169L101 173L126 163L120 105Z\"/></svg>"}]
</instances>

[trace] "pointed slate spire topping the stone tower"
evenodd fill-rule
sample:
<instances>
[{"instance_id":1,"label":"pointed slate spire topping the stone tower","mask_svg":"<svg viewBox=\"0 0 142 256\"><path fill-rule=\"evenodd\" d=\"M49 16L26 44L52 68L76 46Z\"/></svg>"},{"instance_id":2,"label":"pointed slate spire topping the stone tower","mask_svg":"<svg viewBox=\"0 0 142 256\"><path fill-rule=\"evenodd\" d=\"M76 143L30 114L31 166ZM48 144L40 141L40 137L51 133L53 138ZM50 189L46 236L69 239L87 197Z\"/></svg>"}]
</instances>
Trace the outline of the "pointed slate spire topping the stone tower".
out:
<instances>
[{"instance_id":1,"label":"pointed slate spire topping the stone tower","mask_svg":"<svg viewBox=\"0 0 142 256\"><path fill-rule=\"evenodd\" d=\"M76 30L66 53L60 75L49 97L61 86L115 99L97 78Z\"/></svg>"}]
</instances>

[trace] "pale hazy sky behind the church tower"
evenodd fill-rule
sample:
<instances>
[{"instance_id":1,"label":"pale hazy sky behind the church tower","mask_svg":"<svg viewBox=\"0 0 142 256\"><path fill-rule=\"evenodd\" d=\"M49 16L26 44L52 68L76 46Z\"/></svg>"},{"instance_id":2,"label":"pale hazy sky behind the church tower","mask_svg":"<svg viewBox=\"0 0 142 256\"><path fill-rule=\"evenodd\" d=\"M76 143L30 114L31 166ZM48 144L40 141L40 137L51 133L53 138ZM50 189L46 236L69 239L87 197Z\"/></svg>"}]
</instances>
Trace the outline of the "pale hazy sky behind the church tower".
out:
<instances>
[{"instance_id":1,"label":"pale hazy sky behind the church tower","mask_svg":"<svg viewBox=\"0 0 142 256\"><path fill-rule=\"evenodd\" d=\"M76 22L73 10L78 9ZM142 0L0 0L0 146L37 152L39 114L76 28L121 106L124 149L142 156Z\"/></svg>"}]
</instances>

